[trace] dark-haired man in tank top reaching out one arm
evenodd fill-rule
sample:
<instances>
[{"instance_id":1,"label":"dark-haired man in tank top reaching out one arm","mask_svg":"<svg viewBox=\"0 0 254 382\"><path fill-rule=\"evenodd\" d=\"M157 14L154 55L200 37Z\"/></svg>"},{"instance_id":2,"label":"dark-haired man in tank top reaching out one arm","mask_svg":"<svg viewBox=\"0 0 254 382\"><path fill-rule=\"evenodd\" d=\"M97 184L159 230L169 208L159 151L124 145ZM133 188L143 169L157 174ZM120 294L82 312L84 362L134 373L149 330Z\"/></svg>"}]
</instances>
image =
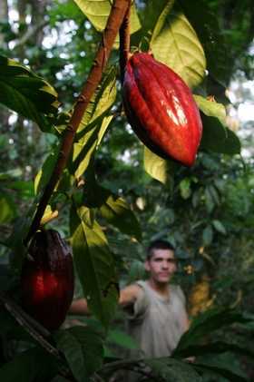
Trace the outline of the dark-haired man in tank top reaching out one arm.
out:
<instances>
[{"instance_id":1,"label":"dark-haired man in tank top reaching out one arm","mask_svg":"<svg viewBox=\"0 0 254 382\"><path fill-rule=\"evenodd\" d=\"M170 356L181 335L189 328L181 288L169 283L177 269L171 243L164 240L151 242L144 265L149 279L122 289L119 304L128 313L129 332L142 350L139 356ZM87 313L85 299L73 301L70 311L73 314Z\"/></svg>"}]
</instances>

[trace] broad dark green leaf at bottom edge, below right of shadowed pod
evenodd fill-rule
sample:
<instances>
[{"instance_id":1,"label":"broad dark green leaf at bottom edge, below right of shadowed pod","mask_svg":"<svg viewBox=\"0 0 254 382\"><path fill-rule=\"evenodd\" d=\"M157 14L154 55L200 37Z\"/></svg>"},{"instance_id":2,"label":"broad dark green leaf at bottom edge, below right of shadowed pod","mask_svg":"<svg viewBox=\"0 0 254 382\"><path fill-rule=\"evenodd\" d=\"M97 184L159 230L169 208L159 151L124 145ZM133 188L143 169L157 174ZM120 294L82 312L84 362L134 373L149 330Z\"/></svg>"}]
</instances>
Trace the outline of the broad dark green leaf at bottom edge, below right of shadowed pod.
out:
<instances>
[{"instance_id":1,"label":"broad dark green leaf at bottom edge, below right of shadowed pod","mask_svg":"<svg viewBox=\"0 0 254 382\"><path fill-rule=\"evenodd\" d=\"M61 330L54 336L73 376L79 382L88 381L103 364L103 340L91 327L73 327Z\"/></svg>"}]
</instances>

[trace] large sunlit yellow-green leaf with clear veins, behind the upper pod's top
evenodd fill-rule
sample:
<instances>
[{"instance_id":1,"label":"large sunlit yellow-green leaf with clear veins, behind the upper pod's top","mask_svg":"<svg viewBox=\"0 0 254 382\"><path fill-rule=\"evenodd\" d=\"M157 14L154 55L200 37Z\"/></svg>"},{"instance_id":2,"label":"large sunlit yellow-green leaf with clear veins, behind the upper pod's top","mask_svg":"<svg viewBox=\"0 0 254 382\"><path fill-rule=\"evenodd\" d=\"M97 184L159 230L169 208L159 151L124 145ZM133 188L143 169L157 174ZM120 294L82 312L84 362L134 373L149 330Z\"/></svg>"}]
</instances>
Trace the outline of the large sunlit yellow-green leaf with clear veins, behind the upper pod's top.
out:
<instances>
[{"instance_id":1,"label":"large sunlit yellow-green leaf with clear veins, behind the upper pod's top","mask_svg":"<svg viewBox=\"0 0 254 382\"><path fill-rule=\"evenodd\" d=\"M206 59L197 34L181 11L165 6L151 36L151 51L191 88L202 82Z\"/></svg>"}]
</instances>

